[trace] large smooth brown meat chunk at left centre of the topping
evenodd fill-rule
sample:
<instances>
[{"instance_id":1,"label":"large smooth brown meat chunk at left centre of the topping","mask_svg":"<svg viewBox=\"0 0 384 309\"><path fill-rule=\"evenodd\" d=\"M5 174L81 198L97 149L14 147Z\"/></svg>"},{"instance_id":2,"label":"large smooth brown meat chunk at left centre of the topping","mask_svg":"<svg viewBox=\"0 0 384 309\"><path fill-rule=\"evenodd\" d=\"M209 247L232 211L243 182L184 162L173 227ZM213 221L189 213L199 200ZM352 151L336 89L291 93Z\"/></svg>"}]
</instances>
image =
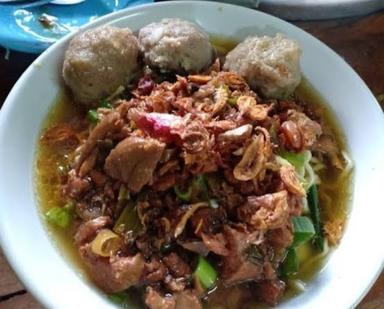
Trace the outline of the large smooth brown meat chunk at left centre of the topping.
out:
<instances>
[{"instance_id":1,"label":"large smooth brown meat chunk at left centre of the topping","mask_svg":"<svg viewBox=\"0 0 384 309\"><path fill-rule=\"evenodd\" d=\"M138 192L151 181L165 144L153 138L129 136L105 160L106 173Z\"/></svg>"}]
</instances>

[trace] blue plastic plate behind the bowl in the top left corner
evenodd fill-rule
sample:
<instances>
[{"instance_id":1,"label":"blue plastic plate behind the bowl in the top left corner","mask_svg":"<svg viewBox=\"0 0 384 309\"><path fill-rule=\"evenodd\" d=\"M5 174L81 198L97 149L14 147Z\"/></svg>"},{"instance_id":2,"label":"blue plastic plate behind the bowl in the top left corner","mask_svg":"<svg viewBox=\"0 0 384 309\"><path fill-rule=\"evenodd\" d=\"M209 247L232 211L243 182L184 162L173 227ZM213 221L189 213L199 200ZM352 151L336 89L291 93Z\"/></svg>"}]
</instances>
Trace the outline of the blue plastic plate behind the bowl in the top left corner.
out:
<instances>
[{"instance_id":1,"label":"blue plastic plate behind the bowl in the top left corner","mask_svg":"<svg viewBox=\"0 0 384 309\"><path fill-rule=\"evenodd\" d=\"M151 2L153 0L86 0L75 5L0 5L0 45L41 53L62 36L99 16Z\"/></svg>"}]
</instances>

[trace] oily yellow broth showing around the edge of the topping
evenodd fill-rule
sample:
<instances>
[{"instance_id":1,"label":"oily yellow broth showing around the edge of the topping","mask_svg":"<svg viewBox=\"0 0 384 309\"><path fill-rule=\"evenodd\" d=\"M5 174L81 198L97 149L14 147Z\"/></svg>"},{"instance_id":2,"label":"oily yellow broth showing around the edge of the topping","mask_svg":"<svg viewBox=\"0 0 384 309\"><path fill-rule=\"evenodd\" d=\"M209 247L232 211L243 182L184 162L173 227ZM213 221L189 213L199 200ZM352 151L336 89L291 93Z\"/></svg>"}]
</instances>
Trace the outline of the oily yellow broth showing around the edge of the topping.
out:
<instances>
[{"instance_id":1,"label":"oily yellow broth showing around the edge of the topping","mask_svg":"<svg viewBox=\"0 0 384 309\"><path fill-rule=\"evenodd\" d=\"M219 56L222 56L236 45L236 42L233 40L215 36L211 37L211 41L218 50ZM345 139L340 128L337 126L337 121L314 88L303 80L297 88L295 96L307 104L315 106L316 111L322 115L324 120L323 126L336 138L339 149L345 150ZM44 132L47 128L56 124L70 122L71 119L76 116L79 117L79 115L83 117L84 111L76 107L67 91L63 91L59 94L57 102L55 102L48 113L41 132ZM35 161L35 185L38 202L40 204L39 211L43 218L49 209L65 204L60 191L60 175L68 166L68 161L67 155L59 155L47 146L47 144L42 142L42 140L38 141ZM322 181L318 186L322 219L340 220L344 224L348 214L347 205L350 197L351 174L347 173L342 175L340 171L328 167L321 171L319 176ZM62 229L46 224L44 219L43 222L45 223L48 233L54 239L55 245L58 246L59 251L72 263L80 275L88 279L86 270L73 244L74 225L76 224L73 224L68 229ZM300 280L304 283L308 282L320 268L323 267L328 256L319 254L319 252L310 245L303 246L299 250L298 255L300 258L300 270L299 273L288 282L284 300L301 292L297 286L291 283L295 282L295 280ZM204 304L204 307L211 309L235 308L235 300L231 300L231 296L227 297L227 295L231 294L230 290L232 290L232 288L225 289L224 287L219 287L212 291L212 297L209 297L210 300ZM131 291L127 293L128 300L125 306L141 307L142 300L139 294L135 289L131 289ZM223 295L223 297L221 297L221 295ZM236 299L235 296L233 296L233 298ZM241 305L241 308L263 307L265 306L256 304L255 302Z\"/></svg>"}]
</instances>

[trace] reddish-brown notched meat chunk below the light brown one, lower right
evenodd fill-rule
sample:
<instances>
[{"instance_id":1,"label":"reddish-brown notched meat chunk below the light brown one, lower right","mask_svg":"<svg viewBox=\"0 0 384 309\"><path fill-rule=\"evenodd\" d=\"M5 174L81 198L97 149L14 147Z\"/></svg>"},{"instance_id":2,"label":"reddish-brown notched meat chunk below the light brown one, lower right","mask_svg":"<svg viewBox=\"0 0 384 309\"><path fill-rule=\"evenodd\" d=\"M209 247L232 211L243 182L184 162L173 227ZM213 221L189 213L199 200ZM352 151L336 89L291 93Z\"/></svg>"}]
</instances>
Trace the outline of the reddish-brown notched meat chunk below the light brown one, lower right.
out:
<instances>
[{"instance_id":1,"label":"reddish-brown notched meat chunk below the light brown one, lower right","mask_svg":"<svg viewBox=\"0 0 384 309\"><path fill-rule=\"evenodd\" d=\"M260 280L263 265L247 259L246 249L252 244L258 244L261 234L224 227L229 254L223 257L222 277L226 285L238 284L245 281Z\"/></svg>"}]
</instances>

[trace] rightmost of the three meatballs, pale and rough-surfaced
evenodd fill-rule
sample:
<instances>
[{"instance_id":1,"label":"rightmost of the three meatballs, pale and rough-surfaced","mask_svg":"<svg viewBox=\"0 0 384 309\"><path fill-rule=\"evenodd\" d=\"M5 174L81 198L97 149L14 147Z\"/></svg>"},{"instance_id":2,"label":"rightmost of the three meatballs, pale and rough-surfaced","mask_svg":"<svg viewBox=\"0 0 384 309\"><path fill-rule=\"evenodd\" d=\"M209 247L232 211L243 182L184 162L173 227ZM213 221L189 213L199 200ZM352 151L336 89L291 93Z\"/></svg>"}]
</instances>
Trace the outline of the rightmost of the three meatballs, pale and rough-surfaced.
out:
<instances>
[{"instance_id":1,"label":"rightmost of the three meatballs, pale and rough-surfaced","mask_svg":"<svg viewBox=\"0 0 384 309\"><path fill-rule=\"evenodd\" d=\"M282 34L253 36L227 54L224 69L243 76L264 97L281 99L300 83L300 54L298 44Z\"/></svg>"}]
</instances>

